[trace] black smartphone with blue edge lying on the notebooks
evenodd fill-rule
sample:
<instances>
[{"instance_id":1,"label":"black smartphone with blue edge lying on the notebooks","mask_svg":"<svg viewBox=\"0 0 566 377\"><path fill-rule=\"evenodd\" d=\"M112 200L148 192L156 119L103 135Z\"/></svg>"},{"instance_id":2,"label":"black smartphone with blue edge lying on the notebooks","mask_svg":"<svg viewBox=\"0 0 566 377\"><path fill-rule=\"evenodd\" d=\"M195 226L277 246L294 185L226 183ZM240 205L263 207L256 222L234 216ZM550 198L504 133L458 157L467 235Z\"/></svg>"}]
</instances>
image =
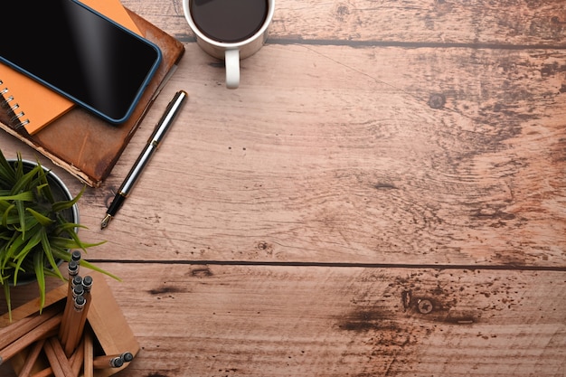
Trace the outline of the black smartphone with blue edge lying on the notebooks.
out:
<instances>
[{"instance_id":1,"label":"black smartphone with blue edge lying on the notebooks","mask_svg":"<svg viewBox=\"0 0 566 377\"><path fill-rule=\"evenodd\" d=\"M74 0L1 0L0 61L120 124L131 116L162 53Z\"/></svg>"}]
</instances>

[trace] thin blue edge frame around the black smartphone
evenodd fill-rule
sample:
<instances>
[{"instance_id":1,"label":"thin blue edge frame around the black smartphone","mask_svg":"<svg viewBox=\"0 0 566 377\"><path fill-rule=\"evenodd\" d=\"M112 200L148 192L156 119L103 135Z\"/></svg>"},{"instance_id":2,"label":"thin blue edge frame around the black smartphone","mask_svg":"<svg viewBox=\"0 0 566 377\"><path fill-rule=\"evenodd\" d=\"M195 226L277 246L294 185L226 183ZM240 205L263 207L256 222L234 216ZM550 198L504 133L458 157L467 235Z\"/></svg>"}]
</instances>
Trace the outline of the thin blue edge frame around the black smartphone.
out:
<instances>
[{"instance_id":1,"label":"thin blue edge frame around the black smartphone","mask_svg":"<svg viewBox=\"0 0 566 377\"><path fill-rule=\"evenodd\" d=\"M151 46L155 51L156 51L156 61L154 61L153 66L151 67L151 69L149 71L147 71L147 75L146 75L146 80L144 80L142 82L142 85L140 87L140 89L137 91L137 95L136 97L132 100L130 107L127 109L127 113L124 115L124 117L122 118L111 118L109 117L107 114L102 113L101 111L99 111L97 108L93 108L91 107L89 104L84 103L83 101L81 101L80 99L76 99L75 97L71 96L71 94L60 90L59 88L53 86L52 84L50 84L49 82L42 80L41 78L33 75L32 72L26 71L24 69L22 69L21 67L13 64L10 61L6 61L4 58L0 57L0 61L5 62L6 65L14 68L14 70L16 71L20 71L22 73L24 73L24 75L32 78L33 80L36 80L38 82L41 82L43 85L45 85L46 87L50 88L51 90L61 94L61 96L70 99L71 101L73 101L74 103L76 103L77 105L79 105L82 108L87 108L88 110L90 110L90 112L92 112L93 114L96 114L99 116L99 118L102 118L104 120L107 120L109 123L112 123L114 125L119 125L124 123L125 121L127 121L128 118L130 118L132 116L132 113L134 112L134 110L137 107L137 104L139 103L139 100L141 99L142 95L144 94L144 92L146 91L147 86L149 85L149 82L153 79L157 68L159 68L159 65L161 64L161 61L163 60L163 53L161 52L161 49L159 49L159 47L154 43L151 42L149 40L147 40L146 38L141 37L140 35L138 35L137 33L132 32L131 30L127 29L126 27L124 27L121 24L118 24L117 22L109 19L107 16L105 16L104 14L100 14L99 12L97 12L95 9L90 8L90 6L84 5L82 3L80 3L80 1L78 0L71 0L72 3L76 3L77 5L82 6L83 8L89 10L91 13L93 14L98 14L100 17L102 17L103 19L107 20L108 22L117 25L120 29L126 31L127 33L129 33L130 35L134 36L135 38L137 38L140 41L146 42L149 46Z\"/></svg>"}]
</instances>

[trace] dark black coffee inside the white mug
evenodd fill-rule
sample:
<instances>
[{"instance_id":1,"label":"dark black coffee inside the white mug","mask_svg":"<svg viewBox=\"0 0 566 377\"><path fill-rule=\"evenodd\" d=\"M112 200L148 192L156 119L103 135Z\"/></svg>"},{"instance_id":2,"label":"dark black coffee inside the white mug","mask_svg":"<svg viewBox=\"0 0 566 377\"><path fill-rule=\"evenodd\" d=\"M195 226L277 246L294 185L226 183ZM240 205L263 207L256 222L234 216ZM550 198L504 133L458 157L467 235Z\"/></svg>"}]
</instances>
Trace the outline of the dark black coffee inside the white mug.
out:
<instances>
[{"instance_id":1,"label":"dark black coffee inside the white mug","mask_svg":"<svg viewBox=\"0 0 566 377\"><path fill-rule=\"evenodd\" d=\"M194 24L217 42L241 42L258 33L268 0L190 0Z\"/></svg>"}]
</instances>

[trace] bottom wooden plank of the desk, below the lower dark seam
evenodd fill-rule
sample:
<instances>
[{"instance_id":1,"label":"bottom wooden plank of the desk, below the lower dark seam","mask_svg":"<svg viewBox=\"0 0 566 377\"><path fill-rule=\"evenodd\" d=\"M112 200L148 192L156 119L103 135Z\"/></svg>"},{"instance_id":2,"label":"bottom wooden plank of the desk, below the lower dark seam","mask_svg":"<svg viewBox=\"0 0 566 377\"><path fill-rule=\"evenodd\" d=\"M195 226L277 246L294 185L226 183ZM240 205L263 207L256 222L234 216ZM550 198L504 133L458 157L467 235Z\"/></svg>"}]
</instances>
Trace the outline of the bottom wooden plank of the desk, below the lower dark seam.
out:
<instances>
[{"instance_id":1,"label":"bottom wooden plank of the desk, below the lower dark seam","mask_svg":"<svg viewBox=\"0 0 566 377\"><path fill-rule=\"evenodd\" d=\"M564 272L104 267L142 347L121 377L566 371Z\"/></svg>"}]
</instances>

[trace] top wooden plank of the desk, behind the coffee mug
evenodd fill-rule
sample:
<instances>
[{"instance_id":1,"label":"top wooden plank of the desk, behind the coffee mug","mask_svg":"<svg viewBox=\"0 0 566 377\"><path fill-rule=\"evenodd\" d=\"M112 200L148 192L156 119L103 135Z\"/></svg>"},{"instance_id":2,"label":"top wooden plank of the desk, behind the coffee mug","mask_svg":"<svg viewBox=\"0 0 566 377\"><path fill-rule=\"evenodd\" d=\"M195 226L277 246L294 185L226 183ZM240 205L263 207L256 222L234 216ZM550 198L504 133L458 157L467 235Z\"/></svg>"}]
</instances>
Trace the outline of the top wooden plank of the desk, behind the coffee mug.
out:
<instances>
[{"instance_id":1,"label":"top wooden plank of the desk, behind the coffee mug","mask_svg":"<svg viewBox=\"0 0 566 377\"><path fill-rule=\"evenodd\" d=\"M122 1L182 41L194 38L181 0ZM564 46L560 0L276 1L269 42Z\"/></svg>"}]
</instances>

